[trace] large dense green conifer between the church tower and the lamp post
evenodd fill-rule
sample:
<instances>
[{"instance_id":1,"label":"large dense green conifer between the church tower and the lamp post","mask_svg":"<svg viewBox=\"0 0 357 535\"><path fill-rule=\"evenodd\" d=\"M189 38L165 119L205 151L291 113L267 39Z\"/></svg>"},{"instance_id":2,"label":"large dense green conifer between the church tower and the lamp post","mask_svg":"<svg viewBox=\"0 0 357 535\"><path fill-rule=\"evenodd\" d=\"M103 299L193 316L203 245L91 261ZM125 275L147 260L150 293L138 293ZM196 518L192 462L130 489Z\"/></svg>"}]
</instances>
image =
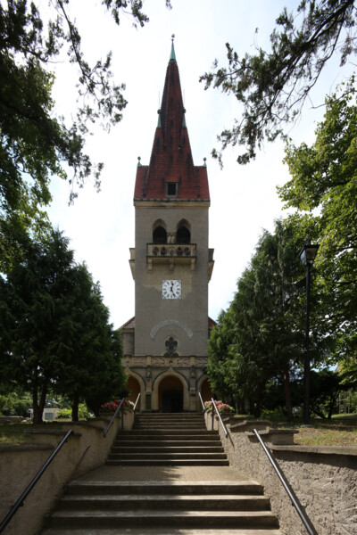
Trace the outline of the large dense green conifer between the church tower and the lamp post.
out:
<instances>
[{"instance_id":1,"label":"large dense green conifer between the church tower and the lamp post","mask_svg":"<svg viewBox=\"0 0 357 535\"><path fill-rule=\"evenodd\" d=\"M304 270L297 251L304 236L313 238L316 232L315 218L296 215L278 220L273 234L264 231L238 280L234 300L212 330L207 366L212 390L234 399L239 412L248 408L259 416L265 403L270 408L285 406L292 416L297 396L291 382L303 361L305 318ZM311 299L315 366L326 360L332 344L317 294ZM267 403L268 385L270 393L275 391L273 406L271 397Z\"/></svg>"}]
</instances>

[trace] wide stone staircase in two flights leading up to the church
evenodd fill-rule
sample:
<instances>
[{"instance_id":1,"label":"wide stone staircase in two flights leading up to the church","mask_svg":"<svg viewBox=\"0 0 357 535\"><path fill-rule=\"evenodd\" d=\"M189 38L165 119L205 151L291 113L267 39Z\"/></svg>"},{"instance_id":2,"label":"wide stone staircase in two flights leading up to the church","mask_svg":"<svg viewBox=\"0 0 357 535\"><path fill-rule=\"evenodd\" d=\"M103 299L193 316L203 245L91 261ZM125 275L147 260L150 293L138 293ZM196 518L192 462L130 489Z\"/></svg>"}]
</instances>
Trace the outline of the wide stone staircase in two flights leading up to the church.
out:
<instances>
[{"instance_id":1,"label":"wide stone staircase in two flights leading up to the church","mask_svg":"<svg viewBox=\"0 0 357 535\"><path fill-rule=\"evenodd\" d=\"M139 415L119 432L104 477L71 481L42 535L281 535L262 485L228 481L231 470L202 415ZM132 471L142 480L128 481Z\"/></svg>"}]
</instances>

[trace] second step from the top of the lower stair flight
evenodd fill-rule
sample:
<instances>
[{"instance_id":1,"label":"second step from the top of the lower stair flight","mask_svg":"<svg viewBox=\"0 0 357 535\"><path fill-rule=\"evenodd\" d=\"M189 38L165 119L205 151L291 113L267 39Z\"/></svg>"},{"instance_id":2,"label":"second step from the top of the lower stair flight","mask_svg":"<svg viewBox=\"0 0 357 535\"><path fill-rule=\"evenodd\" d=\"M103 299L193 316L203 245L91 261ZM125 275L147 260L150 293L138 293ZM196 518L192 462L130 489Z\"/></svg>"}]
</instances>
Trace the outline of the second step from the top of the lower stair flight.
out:
<instances>
[{"instance_id":1,"label":"second step from the top of the lower stair flight","mask_svg":"<svg viewBox=\"0 0 357 535\"><path fill-rule=\"evenodd\" d=\"M270 500L265 496L236 496L227 494L203 495L170 495L163 494L128 494L115 496L112 494L64 496L59 509L162 509L172 510L195 508L197 511L257 511L270 509Z\"/></svg>"}]
</instances>

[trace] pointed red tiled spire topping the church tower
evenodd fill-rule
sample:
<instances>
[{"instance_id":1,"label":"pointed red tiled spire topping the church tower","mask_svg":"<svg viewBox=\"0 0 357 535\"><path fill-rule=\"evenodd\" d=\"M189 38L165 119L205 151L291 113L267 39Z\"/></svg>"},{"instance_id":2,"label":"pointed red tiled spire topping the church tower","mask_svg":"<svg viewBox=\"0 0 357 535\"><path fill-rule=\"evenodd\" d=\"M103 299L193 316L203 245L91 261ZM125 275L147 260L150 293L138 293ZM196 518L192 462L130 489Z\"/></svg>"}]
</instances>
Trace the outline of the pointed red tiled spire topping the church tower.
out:
<instances>
[{"instance_id":1,"label":"pointed red tiled spire topping the church tower","mask_svg":"<svg viewBox=\"0 0 357 535\"><path fill-rule=\"evenodd\" d=\"M138 163L134 200L209 198L207 168L195 166L192 158L172 43L150 164Z\"/></svg>"}]
</instances>

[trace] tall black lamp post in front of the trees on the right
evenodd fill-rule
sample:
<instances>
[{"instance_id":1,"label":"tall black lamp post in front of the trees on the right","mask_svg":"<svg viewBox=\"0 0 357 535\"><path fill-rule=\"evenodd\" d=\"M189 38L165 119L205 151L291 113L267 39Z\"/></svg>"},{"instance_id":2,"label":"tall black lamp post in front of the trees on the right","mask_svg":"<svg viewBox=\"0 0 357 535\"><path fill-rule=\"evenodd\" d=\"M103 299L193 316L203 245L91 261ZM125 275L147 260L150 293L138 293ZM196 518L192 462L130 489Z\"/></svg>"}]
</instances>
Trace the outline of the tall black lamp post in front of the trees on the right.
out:
<instances>
[{"instance_id":1,"label":"tall black lamp post in front of the trees on the right","mask_svg":"<svg viewBox=\"0 0 357 535\"><path fill-rule=\"evenodd\" d=\"M305 318L305 355L303 358L303 424L310 422L310 270L320 245L306 243L299 252L299 259L306 267L306 318Z\"/></svg>"}]
</instances>

